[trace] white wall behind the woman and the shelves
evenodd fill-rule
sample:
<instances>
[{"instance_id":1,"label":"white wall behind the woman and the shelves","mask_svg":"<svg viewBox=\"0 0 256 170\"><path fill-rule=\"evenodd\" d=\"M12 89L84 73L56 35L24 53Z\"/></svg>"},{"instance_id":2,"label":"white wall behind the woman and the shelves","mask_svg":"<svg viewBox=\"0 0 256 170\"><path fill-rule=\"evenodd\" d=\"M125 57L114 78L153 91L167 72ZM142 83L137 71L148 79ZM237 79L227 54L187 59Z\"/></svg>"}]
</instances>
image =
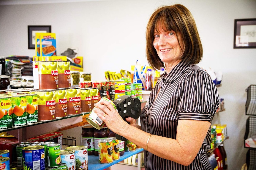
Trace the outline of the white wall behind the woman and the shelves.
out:
<instances>
[{"instance_id":1,"label":"white wall behind the woman and the shelves","mask_svg":"<svg viewBox=\"0 0 256 170\"><path fill-rule=\"evenodd\" d=\"M45 2L45 1L44 1ZM47 1L46 1L47 2ZM60 2L60 0L58 1ZM195 17L203 42L200 66L224 74L220 97L226 111L214 123L227 124L229 139L224 142L229 169L245 163L245 89L256 84L256 50L233 49L234 19L255 18L255 0L116 0L58 4L0 5L0 56L34 56L28 49L28 25L51 25L56 33L57 53L79 49L84 71L92 80L104 80L107 70L130 69L139 59L146 63L145 29L160 5L180 3Z\"/></svg>"}]
</instances>

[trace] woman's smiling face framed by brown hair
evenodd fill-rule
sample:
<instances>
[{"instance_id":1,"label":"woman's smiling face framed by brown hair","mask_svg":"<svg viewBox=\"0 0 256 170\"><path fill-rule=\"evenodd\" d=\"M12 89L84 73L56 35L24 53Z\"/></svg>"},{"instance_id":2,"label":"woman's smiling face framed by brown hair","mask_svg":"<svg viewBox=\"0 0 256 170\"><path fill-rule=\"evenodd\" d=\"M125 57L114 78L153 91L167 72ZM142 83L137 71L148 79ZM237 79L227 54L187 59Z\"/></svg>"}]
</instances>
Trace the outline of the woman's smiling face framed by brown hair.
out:
<instances>
[{"instance_id":1,"label":"woman's smiling face framed by brown hair","mask_svg":"<svg viewBox=\"0 0 256 170\"><path fill-rule=\"evenodd\" d=\"M161 61L165 65L173 65L177 61L181 61L181 56L183 54L182 42L181 46L178 43L178 35L173 31L165 31L159 25L158 31L154 31L154 41L153 45L157 51L157 54ZM181 38L179 38L181 40Z\"/></svg>"}]
</instances>

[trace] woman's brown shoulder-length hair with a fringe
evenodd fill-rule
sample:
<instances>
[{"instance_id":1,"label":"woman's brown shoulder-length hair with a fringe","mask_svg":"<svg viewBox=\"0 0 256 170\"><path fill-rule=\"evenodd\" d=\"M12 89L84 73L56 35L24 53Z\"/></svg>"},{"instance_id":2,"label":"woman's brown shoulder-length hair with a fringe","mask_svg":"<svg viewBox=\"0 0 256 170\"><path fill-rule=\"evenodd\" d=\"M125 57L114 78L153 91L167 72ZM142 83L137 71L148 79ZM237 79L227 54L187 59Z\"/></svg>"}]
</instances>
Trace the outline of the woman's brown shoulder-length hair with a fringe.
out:
<instances>
[{"instance_id":1,"label":"woman's brown shoulder-length hair with a fringe","mask_svg":"<svg viewBox=\"0 0 256 170\"><path fill-rule=\"evenodd\" d=\"M197 31L194 17L191 12L181 4L159 7L151 15L146 28L146 56L148 64L153 69L164 67L153 46L154 31L159 30L158 25L165 31L176 32L178 43L183 43L181 60L189 64L197 64L203 56L203 47ZM181 40L179 40L181 38ZM181 46L181 45L180 45ZM182 48L181 48L182 49Z\"/></svg>"}]
</instances>

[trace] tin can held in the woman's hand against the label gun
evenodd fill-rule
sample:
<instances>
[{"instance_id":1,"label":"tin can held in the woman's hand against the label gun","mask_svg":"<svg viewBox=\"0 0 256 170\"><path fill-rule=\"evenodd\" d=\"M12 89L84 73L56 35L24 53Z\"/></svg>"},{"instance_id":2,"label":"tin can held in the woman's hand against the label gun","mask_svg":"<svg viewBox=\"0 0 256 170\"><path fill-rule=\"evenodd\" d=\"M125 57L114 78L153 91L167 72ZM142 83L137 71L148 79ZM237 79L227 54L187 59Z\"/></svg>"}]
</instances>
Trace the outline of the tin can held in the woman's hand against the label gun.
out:
<instances>
[{"instance_id":1,"label":"tin can held in the woman's hand against the label gun","mask_svg":"<svg viewBox=\"0 0 256 170\"><path fill-rule=\"evenodd\" d=\"M100 99L100 101L108 101L110 102L113 107L116 109L116 105L111 101L109 100L108 98L105 98L105 97L102 97ZM99 101L99 102L100 102ZM91 124L91 126L95 127L96 129L101 129L101 127L105 124L98 116L96 113L94 113L94 109L92 109L91 113L89 114L88 117L86 117L86 120L89 124Z\"/></svg>"}]
</instances>

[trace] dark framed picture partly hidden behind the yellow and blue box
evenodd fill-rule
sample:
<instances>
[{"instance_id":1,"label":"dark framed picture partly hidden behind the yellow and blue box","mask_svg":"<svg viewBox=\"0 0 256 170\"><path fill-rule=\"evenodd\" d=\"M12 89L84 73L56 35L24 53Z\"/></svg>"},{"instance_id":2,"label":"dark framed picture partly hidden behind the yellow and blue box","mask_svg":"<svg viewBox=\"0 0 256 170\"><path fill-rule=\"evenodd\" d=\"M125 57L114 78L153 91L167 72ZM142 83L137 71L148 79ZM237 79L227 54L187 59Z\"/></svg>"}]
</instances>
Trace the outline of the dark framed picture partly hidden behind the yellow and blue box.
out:
<instances>
[{"instance_id":1,"label":"dark framed picture partly hidden behind the yellow and blue box","mask_svg":"<svg viewBox=\"0 0 256 170\"><path fill-rule=\"evenodd\" d=\"M29 49L35 49L36 33L51 33L51 25L28 25Z\"/></svg>"}]
</instances>

